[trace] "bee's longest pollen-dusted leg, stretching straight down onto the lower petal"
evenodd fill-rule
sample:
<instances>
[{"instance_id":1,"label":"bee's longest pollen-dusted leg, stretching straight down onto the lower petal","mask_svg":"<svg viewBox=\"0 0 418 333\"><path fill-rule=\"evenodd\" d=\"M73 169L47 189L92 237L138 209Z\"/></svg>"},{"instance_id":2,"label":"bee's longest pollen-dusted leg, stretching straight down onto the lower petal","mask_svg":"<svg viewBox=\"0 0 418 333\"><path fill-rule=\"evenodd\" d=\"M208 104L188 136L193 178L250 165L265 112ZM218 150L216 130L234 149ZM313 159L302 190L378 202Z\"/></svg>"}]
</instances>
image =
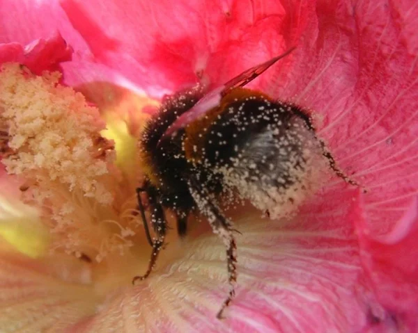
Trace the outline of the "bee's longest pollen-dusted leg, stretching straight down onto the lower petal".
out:
<instances>
[{"instance_id":1,"label":"bee's longest pollen-dusted leg, stretching straight down onto the lower petal","mask_svg":"<svg viewBox=\"0 0 418 333\"><path fill-rule=\"evenodd\" d=\"M210 200L210 195L200 184L198 184L198 182L189 183L189 190L199 211L208 218L213 233L222 238L222 241L226 246L229 294L216 315L218 319L221 319L222 312L229 306L235 296L235 283L237 281L237 246L233 236L233 224L224 216L224 214L222 214L217 204Z\"/></svg>"}]
</instances>

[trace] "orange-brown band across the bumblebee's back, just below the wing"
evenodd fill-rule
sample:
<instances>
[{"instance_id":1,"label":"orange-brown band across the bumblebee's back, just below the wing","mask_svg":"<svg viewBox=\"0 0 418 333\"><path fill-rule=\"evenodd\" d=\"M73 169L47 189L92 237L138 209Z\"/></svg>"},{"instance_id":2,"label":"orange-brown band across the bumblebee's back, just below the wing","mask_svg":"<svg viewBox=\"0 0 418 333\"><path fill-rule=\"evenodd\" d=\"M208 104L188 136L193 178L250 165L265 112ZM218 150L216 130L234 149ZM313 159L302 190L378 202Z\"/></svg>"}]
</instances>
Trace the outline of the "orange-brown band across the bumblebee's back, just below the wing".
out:
<instances>
[{"instance_id":1,"label":"orange-brown band across the bumblebee's back, just below the wing","mask_svg":"<svg viewBox=\"0 0 418 333\"><path fill-rule=\"evenodd\" d=\"M201 161L203 154L202 148L205 147L205 136L210 131L212 124L217 121L219 115L222 115L228 109L230 104L247 97L258 97L274 102L270 97L263 94L263 92L246 88L232 89L228 95L221 99L219 106L211 108L203 117L194 120L185 127L183 148L188 161L192 163L199 163Z\"/></svg>"}]
</instances>

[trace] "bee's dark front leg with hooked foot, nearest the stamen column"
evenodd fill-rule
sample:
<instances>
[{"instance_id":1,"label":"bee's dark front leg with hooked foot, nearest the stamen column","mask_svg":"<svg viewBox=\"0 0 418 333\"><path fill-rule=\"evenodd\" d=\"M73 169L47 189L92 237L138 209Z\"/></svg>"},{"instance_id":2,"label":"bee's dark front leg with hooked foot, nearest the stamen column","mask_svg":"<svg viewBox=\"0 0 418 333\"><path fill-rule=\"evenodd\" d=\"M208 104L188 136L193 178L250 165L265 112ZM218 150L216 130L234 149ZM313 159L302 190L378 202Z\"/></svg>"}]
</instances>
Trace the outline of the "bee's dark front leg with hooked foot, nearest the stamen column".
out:
<instances>
[{"instance_id":1,"label":"bee's dark front leg with hooked foot, nearest the stamen column","mask_svg":"<svg viewBox=\"0 0 418 333\"><path fill-rule=\"evenodd\" d=\"M150 193L148 193L150 195ZM151 225L157 235L157 238L153 241L153 252L151 252L150 262L148 263L148 269L144 275L138 275L132 279L132 284L134 284L137 280L143 280L150 273L152 272L155 261L157 261L158 254L164 245L164 238L167 232L167 220L164 216L164 209L162 209L162 205L157 202L156 198L150 195L150 210L151 210Z\"/></svg>"}]
</instances>

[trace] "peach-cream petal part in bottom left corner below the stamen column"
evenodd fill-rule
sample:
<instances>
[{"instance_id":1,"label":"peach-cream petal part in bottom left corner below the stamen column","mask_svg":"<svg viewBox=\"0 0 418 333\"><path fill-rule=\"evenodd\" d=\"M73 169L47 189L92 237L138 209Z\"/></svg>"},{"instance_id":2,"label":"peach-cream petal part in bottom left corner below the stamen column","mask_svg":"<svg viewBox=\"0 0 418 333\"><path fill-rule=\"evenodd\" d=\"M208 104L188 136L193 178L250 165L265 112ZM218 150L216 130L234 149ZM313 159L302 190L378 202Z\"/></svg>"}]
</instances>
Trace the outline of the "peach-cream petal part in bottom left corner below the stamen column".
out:
<instances>
[{"instance_id":1,"label":"peach-cream petal part in bottom left corner below the stamen column","mask_svg":"<svg viewBox=\"0 0 418 333\"><path fill-rule=\"evenodd\" d=\"M91 286L59 277L68 273L69 259L55 258L63 265L51 266L10 252L1 242L0 249L1 332L61 332L93 314L98 300ZM84 263L75 260L72 270L86 270L76 268Z\"/></svg>"}]
</instances>

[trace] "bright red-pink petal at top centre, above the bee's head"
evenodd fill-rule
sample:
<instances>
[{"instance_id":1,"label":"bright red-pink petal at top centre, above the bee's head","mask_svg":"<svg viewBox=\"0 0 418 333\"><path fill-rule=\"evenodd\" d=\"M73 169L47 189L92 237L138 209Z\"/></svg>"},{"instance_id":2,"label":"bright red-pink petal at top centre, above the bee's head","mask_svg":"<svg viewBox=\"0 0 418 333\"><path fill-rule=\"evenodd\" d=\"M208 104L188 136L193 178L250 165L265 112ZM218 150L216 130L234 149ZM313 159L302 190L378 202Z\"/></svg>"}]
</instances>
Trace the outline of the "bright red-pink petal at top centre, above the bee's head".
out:
<instances>
[{"instance_id":1,"label":"bright red-pink petal at top centre, above the bee's head","mask_svg":"<svg viewBox=\"0 0 418 333\"><path fill-rule=\"evenodd\" d=\"M254 8L250 1L61 3L94 56L153 95L201 76L231 78L286 49L277 29L284 9L277 1Z\"/></svg>"}]
</instances>

